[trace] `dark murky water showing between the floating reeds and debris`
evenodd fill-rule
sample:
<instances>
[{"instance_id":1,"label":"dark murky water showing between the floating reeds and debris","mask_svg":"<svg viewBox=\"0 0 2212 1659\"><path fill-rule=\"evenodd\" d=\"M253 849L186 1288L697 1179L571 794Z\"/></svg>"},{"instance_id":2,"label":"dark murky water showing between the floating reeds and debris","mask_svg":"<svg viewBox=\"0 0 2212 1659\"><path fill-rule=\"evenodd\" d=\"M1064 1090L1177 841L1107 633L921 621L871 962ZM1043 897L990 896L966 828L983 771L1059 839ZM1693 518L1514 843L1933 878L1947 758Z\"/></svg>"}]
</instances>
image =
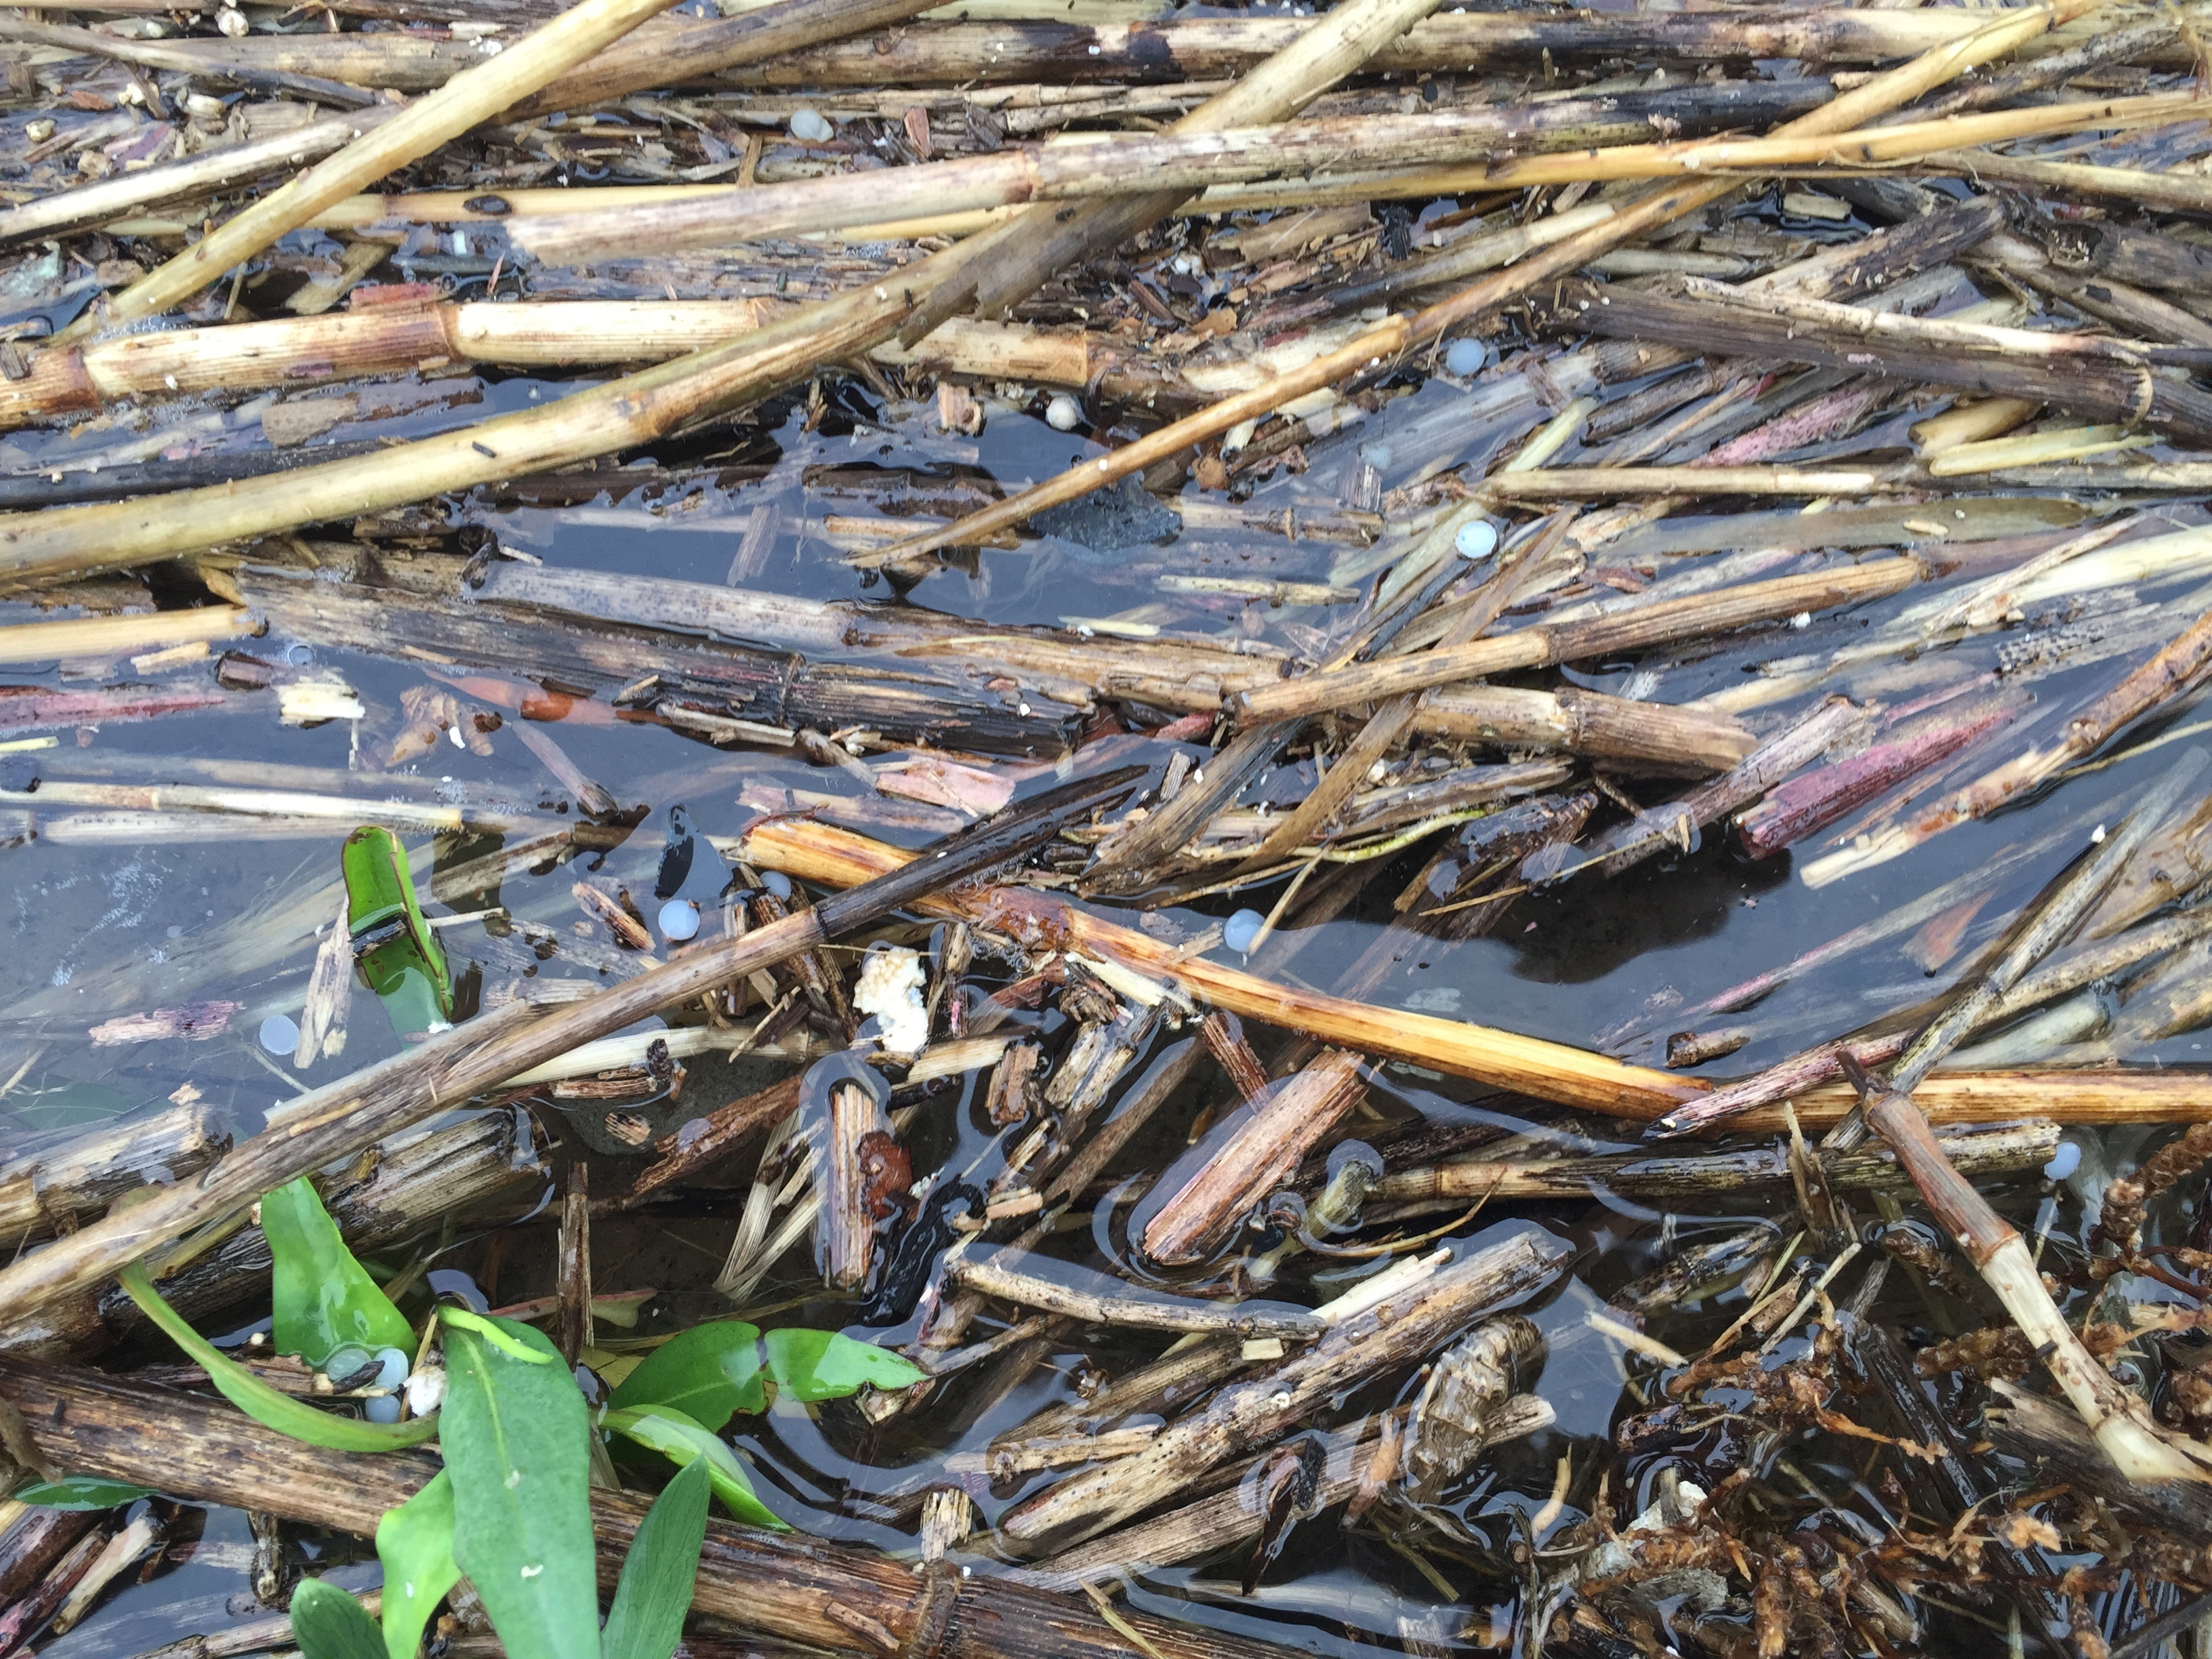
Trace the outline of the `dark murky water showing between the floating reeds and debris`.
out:
<instances>
[{"instance_id":1,"label":"dark murky water showing between the floating reeds and debris","mask_svg":"<svg viewBox=\"0 0 2212 1659\"><path fill-rule=\"evenodd\" d=\"M513 407L533 392L531 383L509 380L469 414L482 414L493 405ZM1294 513L1340 507L1336 476L1358 453L1358 445L1387 445L1394 436L1413 431L1433 438L1440 427L1449 431L1453 400L1467 396L1458 387L1438 383L1394 405L1374 422L1374 431L1356 431L1316 449L1303 476L1263 484L1254 507ZM341 427L332 440L345 436ZM22 453L31 458L46 440L13 442L24 445ZM1451 442L1436 440L1436 447L1449 451ZM750 571L743 575L750 586L803 597L883 597L889 588L863 582L838 562L836 538L825 531L827 518L940 511L929 500L960 498L962 480L1018 484L1088 453L1095 453L1095 447L1082 436L1053 431L1031 411L998 407L980 440L949 438L911 405L885 409L872 394L845 387L834 392L830 418L818 431L805 429L801 409L770 409L759 416L759 425L741 427L719 456L734 482L602 495L595 502L566 507L487 502L471 507L467 518L498 531L509 549L540 557L551 568L719 584L732 575L754 509L774 507L781 526L765 549L748 555ZM1562 462L1575 460L1575 453L1571 449ZM838 480L836 487L810 487L812 469L830 469L827 476ZM860 469L887 476L911 471L905 478L887 478L869 498L854 482ZM739 471L743 478L737 478ZM2177 520L2192 515L2188 509L2172 511ZM987 551L973 560L973 568L931 575L907 595L907 602L984 622L1064 624L1137 615L1146 626L1290 644L1296 639L1292 630L1323 626L1325 617L1316 611L1274 611L1241 602L1208 606L1161 595L1155 591L1157 573L1234 568L1274 580L1325 582L1343 553L1340 542L1285 540L1256 531L1192 533L1183 542L1104 562L1068 546ZM2170 597L2170 591L2152 597ZM1823 624L1812 639L1836 644L1845 630L1863 628L1869 615L1880 617L1902 604L1905 599L1874 606L1836 628ZM268 659L283 657L288 648L290 641L279 637L252 644L252 650ZM1809 646L1792 641L1790 648ZM24 768L22 774L35 770L42 781L117 783L212 779L199 768L204 761L319 768L330 774L380 768L376 754L389 745L400 726L403 697L429 684L422 670L372 648L356 653L316 646L310 655L316 666L343 677L369 708L358 730L354 721L332 721L314 730L279 728L268 708L252 714L177 714L144 726L64 728L55 734L53 748L11 754L4 763ZM1732 650L1721 653L1714 664L1672 668L1661 675L1655 695L1674 701L1694 695L1683 688L1692 679L1741 679L1745 664L1759 655L1763 653ZM2110 677L2112 666L2093 666L2044 679L2035 688L2039 706L2066 708ZM11 672L0 679L29 686L73 684L69 670ZM1579 679L1597 688L1630 690L1628 668ZM1652 695L1650 681L1637 690ZM854 790L854 783L834 768L807 765L790 752L714 750L655 723L568 719L546 730L557 737L575 765L606 785L617 801L646 807L641 825L608 852L604 863L586 856L577 865L546 874L509 874L495 894L478 891L456 905L434 905L434 914L500 905L513 925L540 925L555 938L593 933L597 949L604 951L606 929L582 916L571 883L588 869L602 883L626 887L644 900L655 885L672 807L684 807L706 836L730 836L752 816L737 803L745 785L801 785L832 794ZM1670 1022L1674 1009L1694 1009L1761 969L1776 967L1820 940L1982 867L2000 849L2066 830L2051 852L2024 860L2004 878L1986 902L1964 918L1947 949L1929 947L1922 936L1907 933L1805 973L1754 1013L1743 1015L1754 1026L1750 1042L1705 1071L1745 1073L1807 1042L1860 1024L1887 1006L1940 989L1947 973L2000 931L2015 907L2086 843L2095 823L2117 818L2119 807L2108 810L2106 803L2130 799L2172 752L2168 748L2124 759L2108 770L2068 781L2022 810L1958 830L1907 858L1823 889L1798 880L1787 854L1754 863L1732 849L1725 836L1708 836L1692 854L1652 858L1610 883L1582 878L1531 894L1511 909L1491 938L1409 964L1376 998L1394 1006L1458 1015L1571 1044L1613 1046L1626 1057L1657 1064L1666 1035L1679 1029ZM460 737L440 737L429 752L403 759L392 770L431 785L425 790L429 799L440 794L471 801L504 799L524 812L562 821L553 810L562 792L551 787L544 768L515 741L511 728L489 732L473 748ZM301 779L305 774L268 774L274 785ZM1294 779L1285 779L1285 787L1292 785ZM343 787L343 779L323 779L314 787ZM1641 790L1641 799L1655 801L1661 799L1663 785L1630 787ZM210 1102L234 1133L246 1135L261 1124L270 1106L303 1086L327 1082L398 1051L400 1040L365 995L354 1000L343 1057L323 1060L305 1075L263 1053L254 1035L265 1015L299 1013L316 942L312 925L323 920L303 922L299 905L303 896L336 878L338 841L347 827L334 821L330 834L321 838L263 841L254 836L250 821L239 821L237 834L215 841L62 845L40 838L0 854L9 860L11 874L7 905L0 911L7 927L7 949L0 951L0 993L4 993L0 1006L7 1009L0 1020L7 1033L0 1046L0 1075L13 1073L0 1097L0 1148L40 1130L150 1113L170 1099L192 1095ZM885 834L909 843L922 838L918 832ZM420 836L409 841L420 843ZM449 865L484 845L445 847L438 863ZM1391 914L1389 898L1418 869L1420 858L1422 852L1411 849L1378 863L1352 909L1318 929L1307 929L1310 938L1298 933L1298 922L1292 918L1287 927L1298 949L1287 962L1287 973L1314 987L1329 987L1385 927ZM684 894L712 905L726 880L728 867L701 841ZM1221 896L1199 909L1208 916L1225 916L1241 902L1265 909L1276 894L1279 889L1261 889ZM1170 914L1175 920L1197 922L1199 909ZM653 914L650 905L646 914ZM504 931L509 925L500 927ZM442 933L456 967L480 964L484 987L495 987L515 971L511 940L513 933L487 933L482 922L462 922ZM1918 947L1922 960L1909 956L1905 947ZM1929 958L1938 960L1933 971L1927 967ZM591 967L555 951L540 971L588 975ZM998 971L998 964L982 962L978 982L989 984ZM88 1029L122 1015L212 1000L237 1002L239 1009L221 1033L204 1040L95 1046L86 1037ZM1053 1015L1042 1031L1048 1040L1057 1040L1066 1026ZM1254 1035L1261 1042L1270 1040L1270 1033ZM2139 1057L2190 1062L2201 1057L2199 1040L2174 1037ZM1130 1079L1141 1075L1144 1062L1146 1057L1139 1057L1128 1071ZM765 1075L772 1071L759 1062L732 1066L714 1057L697 1060L675 1119L721 1104L757 1086ZM1188 1126L1206 1106L1206 1093L1186 1088L1183 1097L1161 1113L1157 1128L1124 1152L1115 1172L1164 1168L1183 1148ZM1371 1095L1376 1119L1358 1121L1356 1133L1376 1137L1394 1124L1418 1117L1451 1121L1478 1099L1480 1093L1462 1084L1389 1066L1378 1073ZM1526 1115L1513 1102L1491 1102L1491 1106L1513 1121ZM599 1110L593 1110L593 1119L597 1117ZM1557 1113L1537 1110L1531 1121L1555 1117ZM546 1106L540 1106L540 1119L557 1137L555 1164L580 1155L593 1159L597 1192L622 1190L639 1168L635 1159L619 1159L606 1150L611 1141L597 1121L577 1126ZM916 1146L916 1170L967 1170L969 1179L989 1179L1004 1150L998 1130L982 1117L975 1075L962 1088L931 1097L909 1139ZM2095 1166L2093 1159L2090 1168ZM595 1283L602 1294L644 1287L661 1292L648 1312L644 1325L648 1332L708 1314L745 1312L728 1307L708 1285L728 1248L743 1201L743 1181L750 1179L750 1161L739 1159L721 1179L737 1183L721 1199L710 1192L695 1194L668 1208L611 1219L595 1232ZM2039 1221L2051 1252L2079 1250L2075 1190L2026 1179L2002 1197L2008 1214ZM1500 1632L1509 1624L1504 1608L1526 1577L1524 1551L1533 1546L1542 1562L1546 1540L1590 1513L1595 1493L1586 1473L1615 1464L1615 1431L1626 1418L1655 1405L1648 1389L1650 1367L1644 1365L1639 1376L1630 1378L1621 1345L1593 1327L1588 1314L1683 1245L1705 1241L1745 1214L1772 1214L1778 1208L1774 1194L1734 1199L1717 1194L1710 1212L1666 1212L1613 1194L1590 1201L1491 1206L1464 1232L1480 1234L1486 1228L1504 1230L1537 1221L1584 1248L1577 1274L1526 1310L1548 1343L1540 1391L1555 1407L1557 1425L1489 1453L1480 1475L1449 1493L1427 1526L1411 1526L1400 1515L1387 1528L1365 1524L1347 1531L1338 1526L1334 1513L1327 1513L1292 1535L1252 1597L1241 1593L1239 1555L1228 1562L1146 1573L1130 1586L1130 1601L1316 1652L1400 1646L1409 1637L1444 1646L1486 1646L1489 1608L1502 1608ZM1449 1217L1438 1217L1444 1219ZM495 1265L487 1259L487 1245L489 1237L482 1230L462 1230L449 1241L431 1239L425 1248L436 1252L434 1265L440 1272L469 1274L495 1303L551 1290L551 1225L544 1219L515 1228L511 1241L500 1248ZM1060 1232L1051 1248L1075 1263L1106 1267L1124 1248L1124 1237L1117 1217L1099 1212L1088 1225ZM398 1272L414 1256L414 1248L385 1252L380 1265ZM1380 1263L1347 1267L1296 1259L1281 1290L1296 1301L1318 1301L1340 1290L1356 1272L1376 1265ZM750 1307L774 1310L779 1321L830 1327L852 1316L849 1307L821 1294L805 1250L794 1252L761 1285ZM1694 1354L1743 1307L1743 1290L1728 1290L1688 1310L1655 1316L1648 1334ZM1980 1318L1971 1310L1931 1305L1905 1283L1902 1274L1891 1276L1867 1312L1898 1329L1931 1334L1949 1334ZM241 1321L252 1314L254 1310L241 1310ZM889 1329L852 1325L852 1332L876 1340L900 1340L911 1334L911 1325ZM1781 1354L1801 1352L1803 1343L1803 1334L1790 1336ZM945 1455L978 1451L1040 1407L1077 1398L1079 1374L1086 1369L1121 1371L1157 1354L1161 1345L1157 1338L1117 1336L1097 1349L1051 1354L1006 1385L995 1380L995 1371L987 1371L973 1389L960 1389L958 1400L931 1405L887 1429L865 1427L849 1407L827 1407L818 1416L772 1413L750 1425L741 1447L761 1471L763 1498L794 1524L891 1551L911 1551L914 1515L911 1504L902 1500L929 1482ZM146 1356L153 1358L153 1352L146 1349ZM1413 1387L1405 1376L1391 1376L1358 1389L1336 1400L1316 1427L1349 1422L1394 1398L1409 1398ZM1551 1502L1562 1462L1575 1471L1573 1498ZM1637 1513L1650 1500L1661 1467L1703 1478L1697 1458L1683 1444L1621 1458L1610 1486L1615 1511ZM1889 1524L1858 1478L1845 1442L1807 1444L1792 1469L1820 1495L1820 1502L1856 1513L1876 1531ZM969 1484L980 1517L989 1524L1053 1478ZM1542 1515L1542 1526L1533 1533L1531 1515ZM257 1617L261 1608L248 1588L250 1540L243 1517L208 1513L204 1524L197 1524L197 1542L186 1542L192 1533L195 1522L181 1520L177 1542L148 1582L113 1595L80 1630L46 1650L71 1659L131 1655L159 1641ZM343 1540L312 1535L296 1537L294 1548L301 1555L352 1553ZM367 1582L374 1566L347 1573ZM1986 1639L1986 1632L1980 1639Z\"/></svg>"}]
</instances>

